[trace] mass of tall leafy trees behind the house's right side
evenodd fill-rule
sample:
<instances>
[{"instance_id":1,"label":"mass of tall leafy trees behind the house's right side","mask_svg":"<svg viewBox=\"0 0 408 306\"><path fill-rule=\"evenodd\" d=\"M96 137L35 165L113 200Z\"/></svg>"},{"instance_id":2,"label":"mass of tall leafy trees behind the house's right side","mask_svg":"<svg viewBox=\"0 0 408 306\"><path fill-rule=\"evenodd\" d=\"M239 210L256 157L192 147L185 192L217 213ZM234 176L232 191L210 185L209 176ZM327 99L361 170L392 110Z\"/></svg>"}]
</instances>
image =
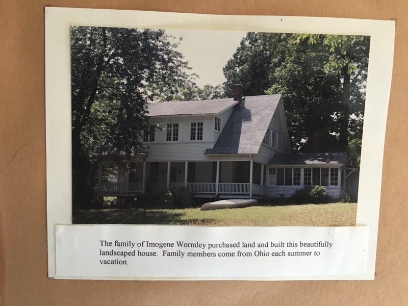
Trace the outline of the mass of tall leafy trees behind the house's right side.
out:
<instances>
[{"instance_id":1,"label":"mass of tall leafy trees behind the house's right side","mask_svg":"<svg viewBox=\"0 0 408 306\"><path fill-rule=\"evenodd\" d=\"M362 135L368 46L363 36L248 33L224 85L282 94L294 151L345 152Z\"/></svg>"}]
</instances>

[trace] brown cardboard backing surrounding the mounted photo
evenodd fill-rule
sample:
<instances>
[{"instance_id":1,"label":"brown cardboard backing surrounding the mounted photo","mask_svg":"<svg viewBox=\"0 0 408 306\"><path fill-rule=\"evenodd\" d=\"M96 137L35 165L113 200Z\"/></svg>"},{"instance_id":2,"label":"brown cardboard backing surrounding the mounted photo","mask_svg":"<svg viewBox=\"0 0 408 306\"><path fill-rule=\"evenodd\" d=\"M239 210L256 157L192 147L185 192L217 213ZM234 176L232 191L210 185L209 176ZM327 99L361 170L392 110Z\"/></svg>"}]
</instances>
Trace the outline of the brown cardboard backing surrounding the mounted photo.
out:
<instances>
[{"instance_id":1,"label":"brown cardboard backing surrounding the mounted photo","mask_svg":"<svg viewBox=\"0 0 408 306\"><path fill-rule=\"evenodd\" d=\"M374 281L70 281L47 278L43 7L395 18ZM0 0L0 304L408 304L408 2L392 0Z\"/></svg>"}]
</instances>

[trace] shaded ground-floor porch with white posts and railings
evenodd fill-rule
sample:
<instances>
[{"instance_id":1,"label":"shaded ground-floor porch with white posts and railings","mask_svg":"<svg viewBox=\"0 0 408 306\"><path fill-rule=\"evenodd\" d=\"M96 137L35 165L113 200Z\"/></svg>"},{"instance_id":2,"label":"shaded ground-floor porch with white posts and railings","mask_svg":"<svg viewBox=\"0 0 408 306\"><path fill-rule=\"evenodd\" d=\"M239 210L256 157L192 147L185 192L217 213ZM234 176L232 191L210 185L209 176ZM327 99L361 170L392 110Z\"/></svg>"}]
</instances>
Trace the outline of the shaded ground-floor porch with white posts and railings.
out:
<instances>
[{"instance_id":1,"label":"shaded ground-floor porch with white posts and railings","mask_svg":"<svg viewBox=\"0 0 408 306\"><path fill-rule=\"evenodd\" d=\"M266 166L252 161L136 162L119 165L117 179L103 182L99 167L98 193L101 196L159 194L185 187L196 196L266 196Z\"/></svg>"}]
</instances>

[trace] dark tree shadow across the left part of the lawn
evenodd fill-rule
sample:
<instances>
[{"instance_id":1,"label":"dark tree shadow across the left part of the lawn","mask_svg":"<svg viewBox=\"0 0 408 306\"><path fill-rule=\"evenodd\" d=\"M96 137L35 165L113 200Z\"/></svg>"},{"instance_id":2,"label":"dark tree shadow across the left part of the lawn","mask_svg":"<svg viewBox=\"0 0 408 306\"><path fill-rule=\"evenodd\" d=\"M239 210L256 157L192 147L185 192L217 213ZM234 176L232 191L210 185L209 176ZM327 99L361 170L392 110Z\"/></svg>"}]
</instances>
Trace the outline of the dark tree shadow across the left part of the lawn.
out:
<instances>
[{"instance_id":1,"label":"dark tree shadow across the left part of the lawn","mask_svg":"<svg viewBox=\"0 0 408 306\"><path fill-rule=\"evenodd\" d=\"M73 224L197 224L212 219L182 219L184 214L167 210L109 209L74 213Z\"/></svg>"}]
</instances>

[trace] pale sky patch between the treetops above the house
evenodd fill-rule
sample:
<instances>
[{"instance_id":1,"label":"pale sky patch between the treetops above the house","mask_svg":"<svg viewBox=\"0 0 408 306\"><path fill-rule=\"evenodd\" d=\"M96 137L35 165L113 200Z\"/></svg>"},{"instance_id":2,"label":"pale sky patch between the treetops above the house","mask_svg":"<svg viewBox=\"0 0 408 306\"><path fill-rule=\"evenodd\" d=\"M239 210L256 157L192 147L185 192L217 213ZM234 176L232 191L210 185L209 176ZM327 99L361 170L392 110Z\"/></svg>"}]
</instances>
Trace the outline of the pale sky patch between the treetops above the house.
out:
<instances>
[{"instance_id":1,"label":"pale sky patch between the treetops above the house","mask_svg":"<svg viewBox=\"0 0 408 306\"><path fill-rule=\"evenodd\" d=\"M192 67L188 72L199 75L200 78L195 80L199 87L206 84L215 86L226 81L222 67L232 58L246 35L246 32L186 30L166 30L166 33L175 37L171 42L184 37L176 50L184 55L184 60Z\"/></svg>"}]
</instances>

